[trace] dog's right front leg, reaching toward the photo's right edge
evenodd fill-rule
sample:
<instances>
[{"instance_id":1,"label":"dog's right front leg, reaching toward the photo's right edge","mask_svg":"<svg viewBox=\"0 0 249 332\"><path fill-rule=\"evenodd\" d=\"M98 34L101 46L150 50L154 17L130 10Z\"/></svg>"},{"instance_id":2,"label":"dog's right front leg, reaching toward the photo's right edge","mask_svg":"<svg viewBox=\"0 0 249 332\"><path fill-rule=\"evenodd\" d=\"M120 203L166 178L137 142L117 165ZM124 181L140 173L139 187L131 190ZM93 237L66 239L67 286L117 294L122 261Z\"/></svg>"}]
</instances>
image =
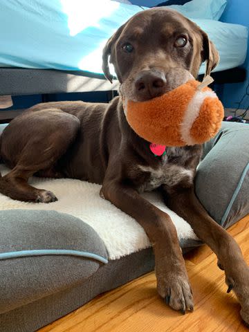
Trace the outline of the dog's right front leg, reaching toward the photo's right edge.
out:
<instances>
[{"instance_id":1,"label":"dog's right front leg, reaching toward the photo's right edge","mask_svg":"<svg viewBox=\"0 0 249 332\"><path fill-rule=\"evenodd\" d=\"M194 188L167 189L167 206L192 226L196 235L210 246L225 270L228 293L233 289L241 304L241 317L249 324L249 268L237 242L205 211L194 194Z\"/></svg>"}]
</instances>

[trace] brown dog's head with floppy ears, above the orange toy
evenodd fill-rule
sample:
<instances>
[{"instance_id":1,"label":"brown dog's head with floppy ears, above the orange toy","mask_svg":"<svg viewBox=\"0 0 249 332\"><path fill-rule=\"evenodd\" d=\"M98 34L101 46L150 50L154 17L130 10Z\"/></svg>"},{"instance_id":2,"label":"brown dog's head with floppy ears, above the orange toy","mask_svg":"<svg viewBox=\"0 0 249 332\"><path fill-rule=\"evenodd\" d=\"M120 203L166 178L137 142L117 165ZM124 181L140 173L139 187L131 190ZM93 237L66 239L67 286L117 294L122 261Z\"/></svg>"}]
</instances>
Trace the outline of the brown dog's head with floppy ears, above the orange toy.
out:
<instances>
[{"instance_id":1,"label":"brown dog's head with floppy ears, above the orange toy","mask_svg":"<svg viewBox=\"0 0 249 332\"><path fill-rule=\"evenodd\" d=\"M185 83L191 75L196 78L204 61L206 74L210 74L219 62L208 35L183 15L165 8L139 12L108 40L102 68L111 81L109 57L121 94L133 101L149 100Z\"/></svg>"}]
</instances>

